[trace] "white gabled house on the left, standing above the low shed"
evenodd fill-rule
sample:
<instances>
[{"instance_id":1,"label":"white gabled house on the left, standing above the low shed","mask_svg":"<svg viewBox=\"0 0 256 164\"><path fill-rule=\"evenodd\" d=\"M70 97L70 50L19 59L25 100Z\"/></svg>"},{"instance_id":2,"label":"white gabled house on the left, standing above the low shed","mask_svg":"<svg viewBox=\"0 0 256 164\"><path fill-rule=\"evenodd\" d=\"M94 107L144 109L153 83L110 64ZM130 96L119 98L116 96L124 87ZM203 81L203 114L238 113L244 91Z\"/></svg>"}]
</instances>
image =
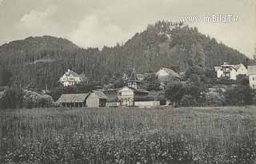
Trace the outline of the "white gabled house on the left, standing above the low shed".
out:
<instances>
[{"instance_id":1,"label":"white gabled house on the left, standing above the low shed","mask_svg":"<svg viewBox=\"0 0 256 164\"><path fill-rule=\"evenodd\" d=\"M75 73L73 70L68 69L65 74L59 79L59 82L63 84L63 86L74 86L75 84L82 82L82 76Z\"/></svg>"}]
</instances>

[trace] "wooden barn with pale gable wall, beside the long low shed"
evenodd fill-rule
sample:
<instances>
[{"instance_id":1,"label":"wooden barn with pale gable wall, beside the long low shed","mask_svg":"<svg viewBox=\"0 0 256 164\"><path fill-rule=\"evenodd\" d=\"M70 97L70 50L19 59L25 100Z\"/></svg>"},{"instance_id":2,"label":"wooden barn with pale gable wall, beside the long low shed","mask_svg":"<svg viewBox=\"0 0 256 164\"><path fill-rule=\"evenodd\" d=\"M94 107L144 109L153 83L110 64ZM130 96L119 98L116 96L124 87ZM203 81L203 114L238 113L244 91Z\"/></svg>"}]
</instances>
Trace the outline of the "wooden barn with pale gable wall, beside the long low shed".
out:
<instances>
[{"instance_id":1,"label":"wooden barn with pale gable wall, beside the long low shed","mask_svg":"<svg viewBox=\"0 0 256 164\"><path fill-rule=\"evenodd\" d=\"M92 90L86 99L87 107L102 107L106 106L107 100L106 94L104 94L101 90Z\"/></svg>"}]
</instances>

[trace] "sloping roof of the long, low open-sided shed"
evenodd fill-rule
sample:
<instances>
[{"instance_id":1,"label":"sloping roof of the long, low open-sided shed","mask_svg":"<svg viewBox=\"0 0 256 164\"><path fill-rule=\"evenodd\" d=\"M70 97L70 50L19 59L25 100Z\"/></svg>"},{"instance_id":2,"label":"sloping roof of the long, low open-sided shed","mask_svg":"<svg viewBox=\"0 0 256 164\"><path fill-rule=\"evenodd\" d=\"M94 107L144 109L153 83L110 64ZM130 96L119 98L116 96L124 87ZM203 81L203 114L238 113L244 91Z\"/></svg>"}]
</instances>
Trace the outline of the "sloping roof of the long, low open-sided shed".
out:
<instances>
[{"instance_id":1,"label":"sloping roof of the long, low open-sided shed","mask_svg":"<svg viewBox=\"0 0 256 164\"><path fill-rule=\"evenodd\" d=\"M57 102L84 102L88 95L89 94L62 94Z\"/></svg>"}]
</instances>

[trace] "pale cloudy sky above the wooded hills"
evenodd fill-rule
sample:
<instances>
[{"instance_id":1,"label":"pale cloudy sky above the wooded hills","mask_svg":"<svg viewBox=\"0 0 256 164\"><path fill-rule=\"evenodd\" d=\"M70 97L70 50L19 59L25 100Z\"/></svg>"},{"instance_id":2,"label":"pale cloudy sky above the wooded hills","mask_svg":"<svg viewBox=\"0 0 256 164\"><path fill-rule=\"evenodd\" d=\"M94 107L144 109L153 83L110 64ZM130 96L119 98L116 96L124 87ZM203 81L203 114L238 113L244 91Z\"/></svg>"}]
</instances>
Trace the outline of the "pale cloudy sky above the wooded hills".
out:
<instances>
[{"instance_id":1,"label":"pale cloudy sky above the wooded hills","mask_svg":"<svg viewBox=\"0 0 256 164\"><path fill-rule=\"evenodd\" d=\"M181 21L248 57L256 47L256 0L0 0L0 45L30 36L83 48L115 46L158 20ZM234 15L230 22L203 17Z\"/></svg>"}]
</instances>

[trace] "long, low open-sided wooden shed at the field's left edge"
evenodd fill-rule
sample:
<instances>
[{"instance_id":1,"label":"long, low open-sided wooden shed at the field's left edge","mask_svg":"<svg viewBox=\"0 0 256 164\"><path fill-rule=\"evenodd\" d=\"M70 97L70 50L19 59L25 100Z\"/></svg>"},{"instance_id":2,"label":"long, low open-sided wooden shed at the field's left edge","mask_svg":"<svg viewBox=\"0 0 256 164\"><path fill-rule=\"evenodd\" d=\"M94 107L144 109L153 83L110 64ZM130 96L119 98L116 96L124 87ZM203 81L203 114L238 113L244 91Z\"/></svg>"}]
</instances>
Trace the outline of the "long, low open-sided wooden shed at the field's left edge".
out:
<instances>
[{"instance_id":1,"label":"long, low open-sided wooden shed at the field's left edge","mask_svg":"<svg viewBox=\"0 0 256 164\"><path fill-rule=\"evenodd\" d=\"M89 94L62 94L58 103L63 107L86 107L86 98Z\"/></svg>"}]
</instances>

